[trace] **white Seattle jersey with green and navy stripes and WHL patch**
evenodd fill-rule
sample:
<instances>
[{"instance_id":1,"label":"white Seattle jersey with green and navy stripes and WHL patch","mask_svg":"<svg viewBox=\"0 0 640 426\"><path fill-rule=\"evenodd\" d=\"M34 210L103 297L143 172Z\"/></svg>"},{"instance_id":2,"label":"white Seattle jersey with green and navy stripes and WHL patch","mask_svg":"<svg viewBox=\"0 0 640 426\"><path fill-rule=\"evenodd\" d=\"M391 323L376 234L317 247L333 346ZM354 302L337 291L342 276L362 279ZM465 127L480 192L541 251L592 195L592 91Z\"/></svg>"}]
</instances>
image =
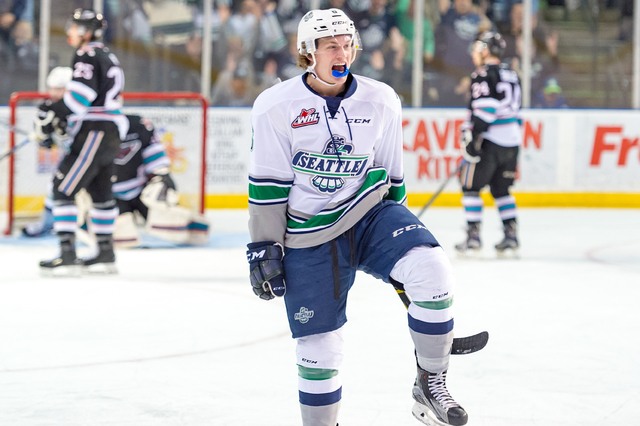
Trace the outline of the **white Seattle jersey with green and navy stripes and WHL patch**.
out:
<instances>
[{"instance_id":1,"label":"white Seattle jersey with green and navy stripes and WHL patch","mask_svg":"<svg viewBox=\"0 0 640 426\"><path fill-rule=\"evenodd\" d=\"M402 109L393 89L349 76L344 97L322 97L305 78L265 90L253 106L252 241L312 247L383 198L406 201Z\"/></svg>"}]
</instances>

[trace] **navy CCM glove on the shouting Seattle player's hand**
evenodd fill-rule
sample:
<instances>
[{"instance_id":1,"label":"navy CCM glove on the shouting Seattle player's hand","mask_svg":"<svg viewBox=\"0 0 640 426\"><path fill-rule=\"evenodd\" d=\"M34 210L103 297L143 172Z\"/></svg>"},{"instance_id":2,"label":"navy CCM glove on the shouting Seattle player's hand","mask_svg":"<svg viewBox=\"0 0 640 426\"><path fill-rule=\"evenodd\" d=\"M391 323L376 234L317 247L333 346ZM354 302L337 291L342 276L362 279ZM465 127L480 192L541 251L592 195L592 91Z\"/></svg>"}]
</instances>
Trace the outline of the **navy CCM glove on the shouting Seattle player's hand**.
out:
<instances>
[{"instance_id":1,"label":"navy CCM glove on the shouting Seattle player's hand","mask_svg":"<svg viewBox=\"0 0 640 426\"><path fill-rule=\"evenodd\" d=\"M253 292L260 299L271 300L286 292L282 246L273 241L247 244L249 280Z\"/></svg>"}]
</instances>

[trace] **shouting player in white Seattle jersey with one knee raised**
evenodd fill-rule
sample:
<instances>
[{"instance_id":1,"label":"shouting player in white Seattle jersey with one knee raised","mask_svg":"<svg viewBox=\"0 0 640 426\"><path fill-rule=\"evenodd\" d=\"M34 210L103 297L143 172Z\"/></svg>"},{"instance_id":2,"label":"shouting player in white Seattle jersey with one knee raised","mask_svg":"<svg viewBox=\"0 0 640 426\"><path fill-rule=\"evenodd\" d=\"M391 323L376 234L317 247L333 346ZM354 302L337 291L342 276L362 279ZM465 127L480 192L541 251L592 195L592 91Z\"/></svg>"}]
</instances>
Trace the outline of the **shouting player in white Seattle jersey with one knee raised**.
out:
<instances>
[{"instance_id":1,"label":"shouting player in white Seattle jersey with one knee raised","mask_svg":"<svg viewBox=\"0 0 640 426\"><path fill-rule=\"evenodd\" d=\"M302 424L337 424L342 326L360 270L401 283L413 300L416 418L464 425L467 413L446 387L454 277L405 206L400 100L350 73L360 41L341 10L305 14L297 47L306 72L265 90L252 110L247 259L254 293L284 297Z\"/></svg>"}]
</instances>

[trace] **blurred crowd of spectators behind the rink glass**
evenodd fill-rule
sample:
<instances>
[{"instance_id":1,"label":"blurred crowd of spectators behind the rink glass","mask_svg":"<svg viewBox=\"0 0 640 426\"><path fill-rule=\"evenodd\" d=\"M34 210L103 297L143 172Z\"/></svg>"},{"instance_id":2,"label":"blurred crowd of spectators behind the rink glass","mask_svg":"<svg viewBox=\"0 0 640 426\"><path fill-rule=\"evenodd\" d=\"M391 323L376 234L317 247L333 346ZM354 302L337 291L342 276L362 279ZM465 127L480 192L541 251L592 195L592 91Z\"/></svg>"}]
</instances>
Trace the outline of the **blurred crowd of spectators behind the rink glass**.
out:
<instances>
[{"instance_id":1,"label":"blurred crowd of spectators behind the rink glass","mask_svg":"<svg viewBox=\"0 0 640 426\"><path fill-rule=\"evenodd\" d=\"M413 57L412 46L416 1L424 2L420 58ZM538 19L539 1L532 0L532 106L545 105L550 81L554 91L561 90L558 35ZM12 91L37 87L34 23L39 3L0 0L0 103L5 104ZM92 0L56 0L51 67L70 63L55 44L70 11L92 6ZM473 70L469 46L483 30L504 35L503 60L521 70L522 0L213 0L211 103L250 106L264 88L301 74L295 65L297 25L314 7L340 8L351 17L363 44L352 72L388 83L407 106L412 104L415 60L423 63L424 106L466 106ZM104 14L109 23L105 41L123 62L126 90L200 91L202 0L105 0Z\"/></svg>"}]
</instances>

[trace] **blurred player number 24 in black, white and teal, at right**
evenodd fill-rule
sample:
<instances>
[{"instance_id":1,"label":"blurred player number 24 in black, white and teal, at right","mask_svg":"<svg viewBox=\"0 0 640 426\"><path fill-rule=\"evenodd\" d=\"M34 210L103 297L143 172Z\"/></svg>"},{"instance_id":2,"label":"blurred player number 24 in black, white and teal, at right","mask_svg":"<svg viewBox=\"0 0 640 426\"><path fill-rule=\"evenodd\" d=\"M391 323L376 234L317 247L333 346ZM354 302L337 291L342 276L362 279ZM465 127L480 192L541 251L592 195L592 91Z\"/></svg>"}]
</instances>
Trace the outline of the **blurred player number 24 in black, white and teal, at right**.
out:
<instances>
[{"instance_id":1,"label":"blurred player number 24 in black, white and teal, at right","mask_svg":"<svg viewBox=\"0 0 640 426\"><path fill-rule=\"evenodd\" d=\"M468 120L461 133L464 163L460 171L462 205L467 238L455 246L463 254L482 248L480 225L483 201L480 191L489 186L504 227L495 245L499 255L519 247L515 197L510 188L516 177L522 143L521 89L518 74L500 62L506 43L499 33L483 32L474 42Z\"/></svg>"}]
</instances>

